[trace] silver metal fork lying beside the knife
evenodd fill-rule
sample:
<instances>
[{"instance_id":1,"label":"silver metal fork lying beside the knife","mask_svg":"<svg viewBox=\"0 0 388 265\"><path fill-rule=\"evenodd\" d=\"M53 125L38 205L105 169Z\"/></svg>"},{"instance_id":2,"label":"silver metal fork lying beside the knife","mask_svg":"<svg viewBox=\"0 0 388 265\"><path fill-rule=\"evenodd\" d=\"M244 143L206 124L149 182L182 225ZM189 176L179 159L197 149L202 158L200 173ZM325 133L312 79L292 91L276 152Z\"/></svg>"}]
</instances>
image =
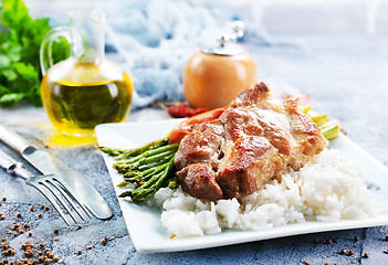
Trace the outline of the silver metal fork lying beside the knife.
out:
<instances>
[{"instance_id":1,"label":"silver metal fork lying beside the knife","mask_svg":"<svg viewBox=\"0 0 388 265\"><path fill-rule=\"evenodd\" d=\"M55 208L67 225L70 225L70 222L56 201L60 202L75 223L77 223L77 220L73 211L75 211L83 221L85 221L85 216L82 214L82 212L86 213L90 219L92 218L85 206L80 203L77 195L74 192L71 192L71 189L66 186L66 183L59 181L54 174L32 176L21 162L18 162L1 150L0 167L4 168L11 176L22 178L25 180L27 184L38 189ZM73 211L67 204L71 205ZM78 208L81 208L83 211L80 211Z\"/></svg>"}]
</instances>

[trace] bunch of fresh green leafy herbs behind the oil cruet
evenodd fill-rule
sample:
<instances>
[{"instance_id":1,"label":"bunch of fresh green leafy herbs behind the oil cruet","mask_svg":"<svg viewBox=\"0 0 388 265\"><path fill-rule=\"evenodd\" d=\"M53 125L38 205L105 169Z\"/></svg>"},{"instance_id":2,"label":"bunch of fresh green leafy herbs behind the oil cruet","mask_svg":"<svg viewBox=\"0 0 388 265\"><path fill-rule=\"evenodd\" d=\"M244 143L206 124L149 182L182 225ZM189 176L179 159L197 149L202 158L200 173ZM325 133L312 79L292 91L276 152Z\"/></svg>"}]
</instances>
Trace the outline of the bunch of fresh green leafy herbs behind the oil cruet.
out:
<instances>
[{"instance_id":1,"label":"bunch of fresh green leafy herbs behind the oil cruet","mask_svg":"<svg viewBox=\"0 0 388 265\"><path fill-rule=\"evenodd\" d=\"M41 106L39 50L51 29L49 19L32 19L22 0L1 0L0 17L0 106L23 98ZM54 62L67 57L67 41L54 42L53 54Z\"/></svg>"}]
</instances>

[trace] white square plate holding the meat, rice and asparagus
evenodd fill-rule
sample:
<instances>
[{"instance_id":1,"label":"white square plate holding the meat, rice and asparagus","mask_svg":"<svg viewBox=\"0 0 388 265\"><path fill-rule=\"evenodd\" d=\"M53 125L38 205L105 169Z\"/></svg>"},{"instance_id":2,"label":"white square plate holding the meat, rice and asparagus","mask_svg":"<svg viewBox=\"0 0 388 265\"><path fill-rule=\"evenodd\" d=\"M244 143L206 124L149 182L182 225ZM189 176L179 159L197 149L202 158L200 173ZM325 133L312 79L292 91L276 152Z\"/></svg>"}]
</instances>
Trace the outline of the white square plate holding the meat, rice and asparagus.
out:
<instances>
[{"instance_id":1,"label":"white square plate holding the meat, rice and asparagus","mask_svg":"<svg viewBox=\"0 0 388 265\"><path fill-rule=\"evenodd\" d=\"M120 149L134 148L167 136L178 121L180 120L104 124L96 127L97 141L99 146L105 147ZM329 148L339 149L346 157L359 160L364 171L380 187L378 190L374 189L373 192L382 195L384 199L388 201L388 169L382 163L344 135L332 140ZM123 189L117 187L117 184L123 181L123 176L113 169L112 165L114 163L114 159L105 153L103 156L113 184L115 186L116 195L118 195L123 192ZM118 198L118 202L130 239L136 250L144 253L189 251L289 235L388 224L388 215L380 215L366 220L343 220L339 222L307 221L304 223L287 224L268 231L223 231L217 235L169 239L161 226L160 211L150 209L144 204L133 203L130 200L126 199Z\"/></svg>"}]
</instances>

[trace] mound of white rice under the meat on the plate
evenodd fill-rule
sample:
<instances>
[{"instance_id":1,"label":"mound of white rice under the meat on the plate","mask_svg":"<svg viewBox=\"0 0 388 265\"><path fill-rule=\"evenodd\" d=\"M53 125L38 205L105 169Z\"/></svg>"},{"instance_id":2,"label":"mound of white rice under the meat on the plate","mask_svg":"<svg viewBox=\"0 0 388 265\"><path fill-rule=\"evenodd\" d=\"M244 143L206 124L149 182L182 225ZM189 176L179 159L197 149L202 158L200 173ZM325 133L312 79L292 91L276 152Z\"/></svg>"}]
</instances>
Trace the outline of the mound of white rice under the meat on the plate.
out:
<instances>
[{"instance_id":1,"label":"mound of white rice under the meat on the plate","mask_svg":"<svg viewBox=\"0 0 388 265\"><path fill-rule=\"evenodd\" d=\"M179 237L217 234L226 229L269 230L313 220L367 219L388 209L367 189L359 167L337 150L324 150L300 171L284 174L281 181L272 180L239 200L212 202L196 199L180 188L165 188L149 203L162 210L162 226Z\"/></svg>"}]
</instances>

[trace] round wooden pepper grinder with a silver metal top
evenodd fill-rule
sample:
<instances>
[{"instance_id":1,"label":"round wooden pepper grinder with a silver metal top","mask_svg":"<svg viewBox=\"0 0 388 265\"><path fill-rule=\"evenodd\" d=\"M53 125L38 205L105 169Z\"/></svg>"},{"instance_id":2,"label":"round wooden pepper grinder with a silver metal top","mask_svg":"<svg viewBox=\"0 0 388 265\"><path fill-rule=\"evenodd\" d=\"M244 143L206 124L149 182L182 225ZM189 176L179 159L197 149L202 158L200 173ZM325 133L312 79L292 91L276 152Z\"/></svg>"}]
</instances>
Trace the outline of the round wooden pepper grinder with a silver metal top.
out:
<instances>
[{"instance_id":1,"label":"round wooden pepper grinder with a silver metal top","mask_svg":"<svg viewBox=\"0 0 388 265\"><path fill-rule=\"evenodd\" d=\"M195 52L183 72L186 100L192 107L209 109L227 106L235 95L258 81L252 56L235 44L244 23L234 21L232 33L218 38L219 45Z\"/></svg>"}]
</instances>

